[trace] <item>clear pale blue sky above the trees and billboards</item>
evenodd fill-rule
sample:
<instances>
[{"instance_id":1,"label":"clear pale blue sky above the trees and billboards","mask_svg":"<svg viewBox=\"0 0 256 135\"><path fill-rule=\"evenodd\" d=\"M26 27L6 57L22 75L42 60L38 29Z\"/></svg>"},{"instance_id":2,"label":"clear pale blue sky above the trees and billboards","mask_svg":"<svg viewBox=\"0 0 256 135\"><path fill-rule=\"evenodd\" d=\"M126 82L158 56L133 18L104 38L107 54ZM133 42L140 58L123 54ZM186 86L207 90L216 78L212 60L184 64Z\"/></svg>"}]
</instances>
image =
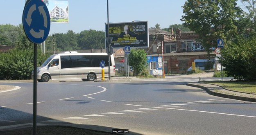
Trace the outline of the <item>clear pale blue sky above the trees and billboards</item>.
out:
<instances>
[{"instance_id":1,"label":"clear pale blue sky above the trees and billboards","mask_svg":"<svg viewBox=\"0 0 256 135\"><path fill-rule=\"evenodd\" d=\"M26 0L2 0L0 4L0 25L22 24ZM50 33L80 33L95 29L105 31L108 22L107 0L62 0L68 1L69 23L51 23ZM182 24L181 6L186 0L109 0L109 23L148 21L148 27L161 28Z\"/></svg>"}]
</instances>

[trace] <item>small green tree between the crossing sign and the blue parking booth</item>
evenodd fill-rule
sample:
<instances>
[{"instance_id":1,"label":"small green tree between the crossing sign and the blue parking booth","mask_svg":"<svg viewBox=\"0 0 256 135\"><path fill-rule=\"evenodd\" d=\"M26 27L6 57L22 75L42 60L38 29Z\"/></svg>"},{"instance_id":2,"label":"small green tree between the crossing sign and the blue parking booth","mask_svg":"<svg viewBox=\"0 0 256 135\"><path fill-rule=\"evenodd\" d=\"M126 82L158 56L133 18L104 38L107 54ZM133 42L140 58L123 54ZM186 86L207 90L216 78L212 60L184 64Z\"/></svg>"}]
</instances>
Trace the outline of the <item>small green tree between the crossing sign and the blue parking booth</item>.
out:
<instances>
[{"instance_id":1,"label":"small green tree between the crossing sign and the blue parking booth","mask_svg":"<svg viewBox=\"0 0 256 135\"><path fill-rule=\"evenodd\" d=\"M147 68L147 54L143 49L132 49L129 54L129 65L133 67L133 76L138 76L140 72Z\"/></svg>"}]
</instances>

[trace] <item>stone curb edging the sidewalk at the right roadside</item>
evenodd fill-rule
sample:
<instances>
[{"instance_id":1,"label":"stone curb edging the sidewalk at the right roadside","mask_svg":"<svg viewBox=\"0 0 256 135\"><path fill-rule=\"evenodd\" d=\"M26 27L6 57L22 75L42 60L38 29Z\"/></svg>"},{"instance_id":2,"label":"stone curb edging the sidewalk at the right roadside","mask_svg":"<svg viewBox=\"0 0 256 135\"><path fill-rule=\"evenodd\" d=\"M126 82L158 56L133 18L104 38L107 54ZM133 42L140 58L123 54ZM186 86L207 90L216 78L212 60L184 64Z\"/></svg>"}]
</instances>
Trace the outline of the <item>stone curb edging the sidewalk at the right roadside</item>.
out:
<instances>
[{"instance_id":1,"label":"stone curb edging the sidewalk at the right roadside","mask_svg":"<svg viewBox=\"0 0 256 135\"><path fill-rule=\"evenodd\" d=\"M203 84L207 85L207 83L203 83ZM217 96L217 97L224 97L224 98L229 98L229 99L236 99L236 100L242 100L242 101L256 102L255 98L240 97L240 96L236 96L236 95L232 95L232 94L224 94L224 93L214 92L214 90L209 90L209 88L207 88L206 86L200 85L200 83L197 83L197 84L195 84L195 83L187 83L186 85L192 86L192 87L201 88L201 89L205 90L208 94L211 94L211 95ZM211 85L213 85L213 84L211 84ZM215 85L215 86L219 87L218 89L223 89L222 87L220 87L218 85ZM227 90L227 89L224 89L224 90Z\"/></svg>"}]
</instances>

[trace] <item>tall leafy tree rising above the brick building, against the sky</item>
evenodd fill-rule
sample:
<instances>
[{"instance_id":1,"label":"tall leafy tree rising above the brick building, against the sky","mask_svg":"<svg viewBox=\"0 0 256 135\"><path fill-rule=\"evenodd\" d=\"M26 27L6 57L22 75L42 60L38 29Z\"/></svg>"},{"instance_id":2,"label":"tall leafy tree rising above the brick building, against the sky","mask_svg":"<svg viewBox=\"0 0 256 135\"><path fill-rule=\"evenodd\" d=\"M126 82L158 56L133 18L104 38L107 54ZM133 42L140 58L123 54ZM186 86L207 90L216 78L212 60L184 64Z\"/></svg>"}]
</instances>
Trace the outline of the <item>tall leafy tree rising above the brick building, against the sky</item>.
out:
<instances>
[{"instance_id":1,"label":"tall leafy tree rising above the brick building, against the sky","mask_svg":"<svg viewBox=\"0 0 256 135\"><path fill-rule=\"evenodd\" d=\"M242 18L242 10L236 5L237 0L187 0L183 6L181 21L183 25L199 35L208 54L217 39L228 43L236 37L235 22Z\"/></svg>"}]
</instances>

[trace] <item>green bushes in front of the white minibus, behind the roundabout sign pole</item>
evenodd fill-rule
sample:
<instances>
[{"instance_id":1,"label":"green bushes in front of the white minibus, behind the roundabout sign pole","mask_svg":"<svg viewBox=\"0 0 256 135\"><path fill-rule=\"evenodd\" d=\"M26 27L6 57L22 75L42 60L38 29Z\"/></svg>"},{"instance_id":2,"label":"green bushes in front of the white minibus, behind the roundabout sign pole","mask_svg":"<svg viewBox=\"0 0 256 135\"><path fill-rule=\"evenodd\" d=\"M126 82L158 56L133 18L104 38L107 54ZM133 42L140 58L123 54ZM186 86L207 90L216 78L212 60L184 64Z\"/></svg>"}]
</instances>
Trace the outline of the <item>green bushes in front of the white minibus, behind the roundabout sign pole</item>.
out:
<instances>
[{"instance_id":1,"label":"green bushes in front of the white minibus, behind the roundabout sign pole","mask_svg":"<svg viewBox=\"0 0 256 135\"><path fill-rule=\"evenodd\" d=\"M41 65L49 54L37 54L37 66ZM15 48L7 53L0 54L0 80L31 79L34 68L34 52L31 48Z\"/></svg>"}]
</instances>

